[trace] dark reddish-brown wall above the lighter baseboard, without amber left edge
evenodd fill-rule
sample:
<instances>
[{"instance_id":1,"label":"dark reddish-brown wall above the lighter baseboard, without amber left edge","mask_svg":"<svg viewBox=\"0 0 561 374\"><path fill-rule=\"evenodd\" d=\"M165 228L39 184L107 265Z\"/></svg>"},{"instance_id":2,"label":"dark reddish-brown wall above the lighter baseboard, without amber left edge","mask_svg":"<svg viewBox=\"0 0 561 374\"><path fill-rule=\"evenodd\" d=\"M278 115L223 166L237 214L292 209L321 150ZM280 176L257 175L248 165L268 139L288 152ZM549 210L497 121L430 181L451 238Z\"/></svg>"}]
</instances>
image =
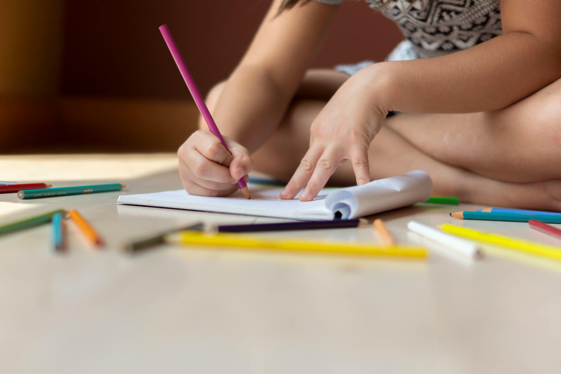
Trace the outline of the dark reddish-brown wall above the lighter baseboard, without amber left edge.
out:
<instances>
[{"instance_id":1,"label":"dark reddish-brown wall above the lighter baseboard, without amber left edge","mask_svg":"<svg viewBox=\"0 0 561 374\"><path fill-rule=\"evenodd\" d=\"M132 5L134 4L134 5ZM199 89L228 76L267 0L66 1L62 93L188 98L158 26L167 24ZM383 59L401 34L364 2L347 1L315 66Z\"/></svg>"}]
</instances>

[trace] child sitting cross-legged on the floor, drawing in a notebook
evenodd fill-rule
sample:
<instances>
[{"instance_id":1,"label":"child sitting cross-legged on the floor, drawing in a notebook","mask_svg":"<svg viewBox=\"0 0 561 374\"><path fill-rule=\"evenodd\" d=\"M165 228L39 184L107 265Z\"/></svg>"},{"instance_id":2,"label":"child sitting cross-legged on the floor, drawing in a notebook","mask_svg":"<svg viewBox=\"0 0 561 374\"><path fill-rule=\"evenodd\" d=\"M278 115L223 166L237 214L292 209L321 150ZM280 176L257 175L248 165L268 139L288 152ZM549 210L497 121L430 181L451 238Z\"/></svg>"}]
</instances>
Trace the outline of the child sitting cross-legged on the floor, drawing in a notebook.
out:
<instances>
[{"instance_id":1,"label":"child sitting cross-legged on the floor, drawing in a notebook","mask_svg":"<svg viewBox=\"0 0 561 374\"><path fill-rule=\"evenodd\" d=\"M366 0L406 37L389 61L308 70L341 1L273 1L208 96L232 155L208 130L178 151L189 193L230 195L255 167L307 201L422 169L435 195L561 210L561 2Z\"/></svg>"}]
</instances>

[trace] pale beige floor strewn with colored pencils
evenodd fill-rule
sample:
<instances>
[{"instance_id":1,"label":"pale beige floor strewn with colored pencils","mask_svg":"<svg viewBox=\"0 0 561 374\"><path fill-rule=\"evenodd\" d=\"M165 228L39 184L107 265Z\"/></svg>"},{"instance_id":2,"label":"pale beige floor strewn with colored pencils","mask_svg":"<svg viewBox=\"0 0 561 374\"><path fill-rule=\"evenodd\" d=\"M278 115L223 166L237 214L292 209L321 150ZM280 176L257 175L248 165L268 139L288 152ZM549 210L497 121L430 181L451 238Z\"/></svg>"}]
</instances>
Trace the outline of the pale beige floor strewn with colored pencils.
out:
<instances>
[{"instance_id":1,"label":"pale beige floor strewn with colored pencils","mask_svg":"<svg viewBox=\"0 0 561 374\"><path fill-rule=\"evenodd\" d=\"M427 261L173 246L126 255L122 243L191 222L274 221L117 206L122 193L181 188L176 165L171 154L0 156L0 180L127 184L0 195L0 223L74 208L108 242L93 250L72 223L64 255L51 250L48 225L0 237L2 372L559 372L561 263L494 247L471 262L431 245ZM418 240L406 230L416 219L561 244L527 224L448 216L477 207L377 216L402 242ZM290 235L376 240L370 226Z\"/></svg>"}]
</instances>

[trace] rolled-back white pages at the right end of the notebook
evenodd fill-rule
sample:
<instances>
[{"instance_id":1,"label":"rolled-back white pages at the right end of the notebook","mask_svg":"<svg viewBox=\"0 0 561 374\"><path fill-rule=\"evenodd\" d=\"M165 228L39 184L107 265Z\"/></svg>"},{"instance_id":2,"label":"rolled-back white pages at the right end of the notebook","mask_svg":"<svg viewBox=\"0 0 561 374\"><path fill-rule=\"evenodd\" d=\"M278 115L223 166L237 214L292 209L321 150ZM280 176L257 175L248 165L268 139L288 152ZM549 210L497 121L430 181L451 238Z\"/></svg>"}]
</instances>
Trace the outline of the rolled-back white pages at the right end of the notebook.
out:
<instances>
[{"instance_id":1,"label":"rolled-back white pages at the right end of the notebook","mask_svg":"<svg viewBox=\"0 0 561 374\"><path fill-rule=\"evenodd\" d=\"M325 207L334 218L352 219L425 201L432 192L429 174L415 170L333 191L325 197Z\"/></svg>"}]
</instances>

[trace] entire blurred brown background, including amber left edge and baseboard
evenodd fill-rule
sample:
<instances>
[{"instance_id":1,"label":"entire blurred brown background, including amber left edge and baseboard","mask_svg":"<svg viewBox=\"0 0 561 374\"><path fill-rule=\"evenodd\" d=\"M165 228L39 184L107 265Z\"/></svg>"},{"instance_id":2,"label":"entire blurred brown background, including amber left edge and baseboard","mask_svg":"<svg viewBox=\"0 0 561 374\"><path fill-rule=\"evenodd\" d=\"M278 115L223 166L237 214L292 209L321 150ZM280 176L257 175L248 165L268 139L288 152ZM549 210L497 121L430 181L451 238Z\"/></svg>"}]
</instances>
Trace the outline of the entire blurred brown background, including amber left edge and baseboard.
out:
<instances>
[{"instance_id":1,"label":"entire blurred brown background, including amber left edge and baseboard","mask_svg":"<svg viewBox=\"0 0 561 374\"><path fill-rule=\"evenodd\" d=\"M3 0L0 153L174 151L197 110L158 26L203 94L226 79L269 0ZM364 2L341 7L315 67L380 61L402 39Z\"/></svg>"}]
</instances>

